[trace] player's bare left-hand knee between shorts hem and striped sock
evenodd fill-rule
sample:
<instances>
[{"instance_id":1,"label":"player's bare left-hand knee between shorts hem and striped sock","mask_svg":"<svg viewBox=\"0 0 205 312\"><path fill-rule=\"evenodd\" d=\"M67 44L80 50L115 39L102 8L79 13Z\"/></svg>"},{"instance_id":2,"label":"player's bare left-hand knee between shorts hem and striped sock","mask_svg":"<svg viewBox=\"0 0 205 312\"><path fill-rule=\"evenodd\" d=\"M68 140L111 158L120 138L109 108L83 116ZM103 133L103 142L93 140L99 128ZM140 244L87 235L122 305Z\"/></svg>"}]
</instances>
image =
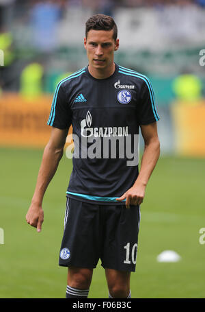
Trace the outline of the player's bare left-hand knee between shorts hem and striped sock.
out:
<instances>
[{"instance_id":1,"label":"player's bare left-hand knee between shorts hem and striped sock","mask_svg":"<svg viewBox=\"0 0 205 312\"><path fill-rule=\"evenodd\" d=\"M92 274L89 271L79 271L72 274L70 287L77 289L88 289L90 287Z\"/></svg>"}]
</instances>

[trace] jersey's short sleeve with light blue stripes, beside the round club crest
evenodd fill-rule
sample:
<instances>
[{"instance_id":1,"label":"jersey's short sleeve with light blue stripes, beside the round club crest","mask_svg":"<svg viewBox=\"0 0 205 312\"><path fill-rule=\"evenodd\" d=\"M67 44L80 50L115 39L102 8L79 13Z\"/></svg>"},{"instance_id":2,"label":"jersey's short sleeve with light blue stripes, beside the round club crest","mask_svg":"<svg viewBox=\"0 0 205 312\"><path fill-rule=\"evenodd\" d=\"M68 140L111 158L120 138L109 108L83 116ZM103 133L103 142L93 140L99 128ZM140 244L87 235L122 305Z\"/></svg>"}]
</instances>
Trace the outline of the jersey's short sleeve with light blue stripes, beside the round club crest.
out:
<instances>
[{"instance_id":1,"label":"jersey's short sleeve with light blue stripes, beside the round club crest","mask_svg":"<svg viewBox=\"0 0 205 312\"><path fill-rule=\"evenodd\" d=\"M137 115L139 125L146 125L160 119L156 112L154 91L148 79L146 79L141 86Z\"/></svg>"}]
</instances>

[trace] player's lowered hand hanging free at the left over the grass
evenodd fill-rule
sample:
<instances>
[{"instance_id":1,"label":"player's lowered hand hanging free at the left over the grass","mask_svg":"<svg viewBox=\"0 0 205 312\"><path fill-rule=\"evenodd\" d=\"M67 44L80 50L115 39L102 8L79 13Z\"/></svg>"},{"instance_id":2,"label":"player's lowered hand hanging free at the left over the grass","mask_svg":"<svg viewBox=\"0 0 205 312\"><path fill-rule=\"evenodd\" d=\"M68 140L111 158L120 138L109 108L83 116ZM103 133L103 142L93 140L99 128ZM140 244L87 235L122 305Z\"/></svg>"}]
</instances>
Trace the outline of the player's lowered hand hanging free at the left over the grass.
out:
<instances>
[{"instance_id":1,"label":"player's lowered hand hanging free at the left over the grass","mask_svg":"<svg viewBox=\"0 0 205 312\"><path fill-rule=\"evenodd\" d=\"M42 206L31 203L26 215L26 220L28 224L37 228L37 232L40 232L44 221L44 211L42 210Z\"/></svg>"}]
</instances>

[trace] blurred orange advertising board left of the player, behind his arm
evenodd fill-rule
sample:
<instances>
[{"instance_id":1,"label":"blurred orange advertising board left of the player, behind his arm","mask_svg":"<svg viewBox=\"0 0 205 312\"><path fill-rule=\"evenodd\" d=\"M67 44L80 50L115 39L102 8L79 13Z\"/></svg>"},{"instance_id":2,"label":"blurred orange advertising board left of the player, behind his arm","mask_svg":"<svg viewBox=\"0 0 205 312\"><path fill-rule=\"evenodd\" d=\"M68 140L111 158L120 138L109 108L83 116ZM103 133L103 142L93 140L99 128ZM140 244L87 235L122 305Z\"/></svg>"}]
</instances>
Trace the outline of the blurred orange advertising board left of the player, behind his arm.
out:
<instances>
[{"instance_id":1,"label":"blurred orange advertising board left of the player, behind his arm","mask_svg":"<svg viewBox=\"0 0 205 312\"><path fill-rule=\"evenodd\" d=\"M44 147L51 127L47 125L53 97L26 99L20 95L0 97L0 145Z\"/></svg>"}]
</instances>

